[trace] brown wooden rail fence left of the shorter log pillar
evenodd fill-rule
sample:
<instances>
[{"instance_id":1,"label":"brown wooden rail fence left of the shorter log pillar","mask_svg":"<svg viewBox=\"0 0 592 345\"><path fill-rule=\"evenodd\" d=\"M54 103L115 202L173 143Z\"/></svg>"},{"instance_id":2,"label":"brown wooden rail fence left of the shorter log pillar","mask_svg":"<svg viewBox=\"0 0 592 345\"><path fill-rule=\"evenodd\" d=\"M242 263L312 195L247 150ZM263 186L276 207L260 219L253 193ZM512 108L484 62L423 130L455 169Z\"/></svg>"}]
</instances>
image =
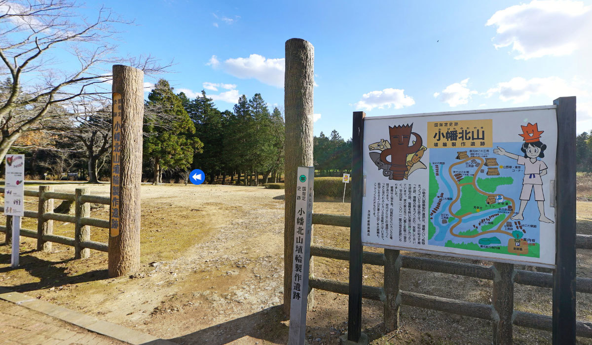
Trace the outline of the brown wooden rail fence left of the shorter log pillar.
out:
<instances>
[{"instance_id":1,"label":"brown wooden rail fence left of the shorter log pillar","mask_svg":"<svg viewBox=\"0 0 592 345\"><path fill-rule=\"evenodd\" d=\"M0 188L4 193L4 188ZM38 211L24 212L24 217L37 220L37 230L21 228L21 236L37 238L37 250L49 251L52 249L52 242L65 244L75 248L75 259L85 259L90 256L89 249L107 252L107 243L91 241L90 227L109 228L108 220L91 218L91 203L110 205L108 196L89 195L88 188L76 188L75 194L59 193L53 191L53 186L39 186L39 191L25 189L25 196L39 198ZM54 213L54 199L73 201L75 215ZM0 207L4 211L4 207ZM53 234L53 221L73 223L75 236L66 237ZM6 226L0 226L0 232L6 234L6 242L12 240L12 216L7 216Z\"/></svg>"}]
</instances>

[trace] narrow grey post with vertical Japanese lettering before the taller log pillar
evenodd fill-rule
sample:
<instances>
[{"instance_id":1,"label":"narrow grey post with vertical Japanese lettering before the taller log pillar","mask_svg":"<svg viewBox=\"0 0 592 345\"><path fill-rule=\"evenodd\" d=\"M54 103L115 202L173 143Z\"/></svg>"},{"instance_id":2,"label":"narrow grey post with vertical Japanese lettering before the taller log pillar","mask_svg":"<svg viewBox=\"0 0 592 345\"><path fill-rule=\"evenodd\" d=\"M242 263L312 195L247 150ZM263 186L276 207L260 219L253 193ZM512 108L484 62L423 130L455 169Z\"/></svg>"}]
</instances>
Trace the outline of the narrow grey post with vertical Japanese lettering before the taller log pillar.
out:
<instances>
[{"instance_id":1,"label":"narrow grey post with vertical Japanese lettering before the taller log pillar","mask_svg":"<svg viewBox=\"0 0 592 345\"><path fill-rule=\"evenodd\" d=\"M294 253L292 254L289 345L303 345L306 332L310 236L313 228L313 180L314 167L298 167Z\"/></svg>"}]
</instances>

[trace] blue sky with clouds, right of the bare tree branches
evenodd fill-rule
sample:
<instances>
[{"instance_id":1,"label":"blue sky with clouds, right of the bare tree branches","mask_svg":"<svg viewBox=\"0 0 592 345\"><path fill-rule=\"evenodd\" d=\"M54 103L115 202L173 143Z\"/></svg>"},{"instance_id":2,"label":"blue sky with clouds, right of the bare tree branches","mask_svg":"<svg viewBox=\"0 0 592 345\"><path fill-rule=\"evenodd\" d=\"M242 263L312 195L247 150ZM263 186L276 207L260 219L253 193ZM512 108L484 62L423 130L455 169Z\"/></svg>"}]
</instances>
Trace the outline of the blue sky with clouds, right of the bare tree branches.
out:
<instances>
[{"instance_id":1,"label":"blue sky with clouds, right of the bare tree branches","mask_svg":"<svg viewBox=\"0 0 592 345\"><path fill-rule=\"evenodd\" d=\"M121 54L175 60L163 75L221 110L259 92L284 104L284 43L315 48L314 133L368 116L552 104L578 96L592 129L591 1L94 1L136 25ZM146 79L146 82L155 82Z\"/></svg>"}]
</instances>

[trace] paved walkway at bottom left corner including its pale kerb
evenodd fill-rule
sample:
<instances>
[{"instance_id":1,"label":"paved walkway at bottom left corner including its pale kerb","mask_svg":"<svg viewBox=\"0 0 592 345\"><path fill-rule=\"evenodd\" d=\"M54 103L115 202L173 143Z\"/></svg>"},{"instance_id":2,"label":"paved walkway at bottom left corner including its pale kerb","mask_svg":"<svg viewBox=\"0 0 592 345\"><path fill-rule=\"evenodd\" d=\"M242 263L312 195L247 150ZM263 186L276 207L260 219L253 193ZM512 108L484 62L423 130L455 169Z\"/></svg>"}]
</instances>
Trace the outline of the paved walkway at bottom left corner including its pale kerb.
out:
<instances>
[{"instance_id":1,"label":"paved walkway at bottom left corner including its pale kerb","mask_svg":"<svg viewBox=\"0 0 592 345\"><path fill-rule=\"evenodd\" d=\"M0 287L0 344L175 343Z\"/></svg>"}]
</instances>

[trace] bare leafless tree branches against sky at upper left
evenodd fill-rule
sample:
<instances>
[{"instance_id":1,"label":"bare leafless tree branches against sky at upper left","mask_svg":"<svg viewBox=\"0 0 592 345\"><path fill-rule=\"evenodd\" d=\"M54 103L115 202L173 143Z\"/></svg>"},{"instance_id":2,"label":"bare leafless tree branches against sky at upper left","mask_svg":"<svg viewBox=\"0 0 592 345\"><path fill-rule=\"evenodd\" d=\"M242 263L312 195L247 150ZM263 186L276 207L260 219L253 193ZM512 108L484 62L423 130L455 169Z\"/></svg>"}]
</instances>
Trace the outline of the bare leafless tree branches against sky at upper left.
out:
<instances>
[{"instance_id":1,"label":"bare leafless tree branches against sky at upper left","mask_svg":"<svg viewBox=\"0 0 592 345\"><path fill-rule=\"evenodd\" d=\"M52 108L81 96L110 95L104 83L112 79L114 63L145 73L170 66L156 66L150 56L118 58L113 25L131 22L107 8L93 19L78 9L70 0L0 0L0 77L8 77L0 93L0 160L23 133L60 115Z\"/></svg>"}]
</instances>

